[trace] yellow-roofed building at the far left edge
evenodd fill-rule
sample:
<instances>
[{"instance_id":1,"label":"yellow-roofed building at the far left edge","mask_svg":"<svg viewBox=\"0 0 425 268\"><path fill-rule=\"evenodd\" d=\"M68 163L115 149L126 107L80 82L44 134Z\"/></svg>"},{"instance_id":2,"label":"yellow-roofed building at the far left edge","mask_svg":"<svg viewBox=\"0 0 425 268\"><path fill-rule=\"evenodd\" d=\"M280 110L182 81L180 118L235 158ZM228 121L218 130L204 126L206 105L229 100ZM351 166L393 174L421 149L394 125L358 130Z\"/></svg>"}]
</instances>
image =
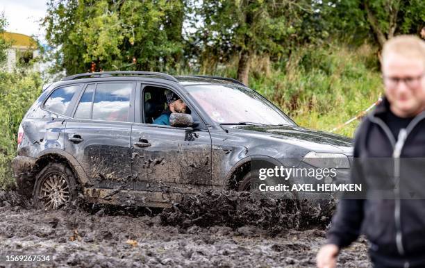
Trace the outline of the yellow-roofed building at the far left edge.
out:
<instances>
[{"instance_id":1,"label":"yellow-roofed building at the far left edge","mask_svg":"<svg viewBox=\"0 0 425 268\"><path fill-rule=\"evenodd\" d=\"M0 35L11 44L6 65L3 67L7 72L12 72L18 65L28 63L40 55L37 42L32 37L22 33L8 32L0 33ZM40 66L35 63L33 69L38 70Z\"/></svg>"}]
</instances>

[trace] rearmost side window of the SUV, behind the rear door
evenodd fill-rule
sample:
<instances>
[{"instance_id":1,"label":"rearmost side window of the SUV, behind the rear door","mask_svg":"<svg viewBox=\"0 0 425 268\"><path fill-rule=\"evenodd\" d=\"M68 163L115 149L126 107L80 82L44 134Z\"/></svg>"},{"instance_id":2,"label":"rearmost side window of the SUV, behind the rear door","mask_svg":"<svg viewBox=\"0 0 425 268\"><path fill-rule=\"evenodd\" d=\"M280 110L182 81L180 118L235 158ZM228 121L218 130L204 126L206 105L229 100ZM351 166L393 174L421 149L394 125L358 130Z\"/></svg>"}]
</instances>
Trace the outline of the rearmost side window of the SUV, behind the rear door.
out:
<instances>
[{"instance_id":1,"label":"rearmost side window of the SUV, behind the rear door","mask_svg":"<svg viewBox=\"0 0 425 268\"><path fill-rule=\"evenodd\" d=\"M50 94L49 99L44 103L44 108L65 115L69 103L74 97L75 92L78 90L79 85L72 85L69 87L60 87Z\"/></svg>"}]
</instances>

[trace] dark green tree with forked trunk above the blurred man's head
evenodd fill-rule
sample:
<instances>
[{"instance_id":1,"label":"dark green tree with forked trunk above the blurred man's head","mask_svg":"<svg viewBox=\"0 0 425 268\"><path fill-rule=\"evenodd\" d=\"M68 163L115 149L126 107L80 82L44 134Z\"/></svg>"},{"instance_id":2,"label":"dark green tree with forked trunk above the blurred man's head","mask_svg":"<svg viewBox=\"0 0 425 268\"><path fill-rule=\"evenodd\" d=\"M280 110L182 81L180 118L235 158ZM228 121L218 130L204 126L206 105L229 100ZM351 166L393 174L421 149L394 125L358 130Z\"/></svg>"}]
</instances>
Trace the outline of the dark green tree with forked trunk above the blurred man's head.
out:
<instances>
[{"instance_id":1,"label":"dark green tree with forked trunk above the blurred man's head","mask_svg":"<svg viewBox=\"0 0 425 268\"><path fill-rule=\"evenodd\" d=\"M419 34L425 26L422 0L344 0L318 4L335 37L382 48L386 40L399 34Z\"/></svg>"}]
</instances>

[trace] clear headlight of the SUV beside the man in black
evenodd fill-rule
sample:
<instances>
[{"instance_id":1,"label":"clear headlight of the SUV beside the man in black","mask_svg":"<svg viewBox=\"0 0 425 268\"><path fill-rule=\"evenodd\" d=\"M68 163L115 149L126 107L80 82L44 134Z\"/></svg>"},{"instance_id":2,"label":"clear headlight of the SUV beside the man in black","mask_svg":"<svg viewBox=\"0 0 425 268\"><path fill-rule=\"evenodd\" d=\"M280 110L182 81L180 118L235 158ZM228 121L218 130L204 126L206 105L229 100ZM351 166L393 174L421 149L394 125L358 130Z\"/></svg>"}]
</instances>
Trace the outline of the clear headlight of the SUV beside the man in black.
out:
<instances>
[{"instance_id":1,"label":"clear headlight of the SUV beside the man in black","mask_svg":"<svg viewBox=\"0 0 425 268\"><path fill-rule=\"evenodd\" d=\"M315 151L310 151L304 156L303 162L319 168L350 168L349 159L342 153L316 153Z\"/></svg>"}]
</instances>

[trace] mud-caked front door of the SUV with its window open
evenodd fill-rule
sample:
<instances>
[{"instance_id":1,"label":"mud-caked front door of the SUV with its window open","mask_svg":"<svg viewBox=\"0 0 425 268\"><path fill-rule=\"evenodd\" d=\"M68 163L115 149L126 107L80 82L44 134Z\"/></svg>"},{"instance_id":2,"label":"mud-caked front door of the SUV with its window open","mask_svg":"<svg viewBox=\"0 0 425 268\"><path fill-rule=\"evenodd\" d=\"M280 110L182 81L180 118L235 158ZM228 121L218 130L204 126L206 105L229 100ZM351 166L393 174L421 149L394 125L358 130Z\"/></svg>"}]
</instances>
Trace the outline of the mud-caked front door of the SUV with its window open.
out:
<instances>
[{"instance_id":1,"label":"mud-caked front door of the SUV with its window open","mask_svg":"<svg viewBox=\"0 0 425 268\"><path fill-rule=\"evenodd\" d=\"M135 189L197 192L200 188L210 187L211 137L208 129L203 123L197 128L145 124L143 110L149 102L148 94L144 94L147 88L149 94L171 90L164 85L141 84L136 92L136 122L131 133ZM183 96L178 96L185 101ZM165 107L165 103L162 106ZM200 120L194 109L190 110L194 120Z\"/></svg>"}]
</instances>

